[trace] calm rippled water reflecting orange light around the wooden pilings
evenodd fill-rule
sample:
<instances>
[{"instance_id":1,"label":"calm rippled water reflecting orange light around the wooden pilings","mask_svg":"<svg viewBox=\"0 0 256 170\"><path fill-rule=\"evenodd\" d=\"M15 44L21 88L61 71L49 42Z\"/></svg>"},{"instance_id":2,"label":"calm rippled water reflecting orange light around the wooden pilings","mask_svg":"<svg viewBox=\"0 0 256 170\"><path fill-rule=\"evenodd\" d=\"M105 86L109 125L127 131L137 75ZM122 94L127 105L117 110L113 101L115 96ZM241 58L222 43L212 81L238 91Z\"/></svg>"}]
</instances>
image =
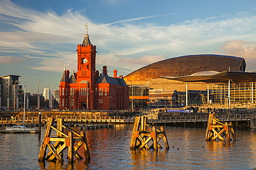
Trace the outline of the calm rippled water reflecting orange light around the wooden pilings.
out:
<instances>
[{"instance_id":1,"label":"calm rippled water reflecting orange light around the wooden pilings","mask_svg":"<svg viewBox=\"0 0 256 170\"><path fill-rule=\"evenodd\" d=\"M1 127L0 127L1 128ZM165 127L170 150L129 149L132 125L86 130L91 161L38 162L44 133L0 134L0 169L255 169L256 130L235 142L207 142L205 129ZM44 131L44 129L43 129ZM67 151L66 151L67 152Z\"/></svg>"}]
</instances>

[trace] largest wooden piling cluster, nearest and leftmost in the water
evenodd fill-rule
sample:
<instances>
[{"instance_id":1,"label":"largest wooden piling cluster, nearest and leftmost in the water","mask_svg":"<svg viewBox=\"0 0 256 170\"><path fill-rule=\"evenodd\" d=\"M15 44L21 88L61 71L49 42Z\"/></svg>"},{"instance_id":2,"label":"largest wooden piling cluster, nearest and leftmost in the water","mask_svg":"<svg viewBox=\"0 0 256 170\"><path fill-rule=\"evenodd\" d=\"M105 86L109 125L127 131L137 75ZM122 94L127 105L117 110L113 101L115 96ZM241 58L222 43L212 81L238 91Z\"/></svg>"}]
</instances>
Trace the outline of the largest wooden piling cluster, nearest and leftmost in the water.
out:
<instances>
[{"instance_id":1,"label":"largest wooden piling cluster, nearest and leftmost in the water","mask_svg":"<svg viewBox=\"0 0 256 170\"><path fill-rule=\"evenodd\" d=\"M77 133L68 127L63 125L63 119L57 118L57 127L53 127L54 118L48 118L46 131L44 134L44 142L41 145L39 151L39 161L61 161L63 162L63 153L65 149L68 149L68 160L73 162L73 158L82 159L78 149L82 147L84 151L84 157L86 160L90 160L89 147L87 145L86 134L84 131ZM64 129L68 131L68 134L64 133ZM56 131L56 136L51 136L52 130ZM46 153L48 148L48 153Z\"/></svg>"}]
</instances>

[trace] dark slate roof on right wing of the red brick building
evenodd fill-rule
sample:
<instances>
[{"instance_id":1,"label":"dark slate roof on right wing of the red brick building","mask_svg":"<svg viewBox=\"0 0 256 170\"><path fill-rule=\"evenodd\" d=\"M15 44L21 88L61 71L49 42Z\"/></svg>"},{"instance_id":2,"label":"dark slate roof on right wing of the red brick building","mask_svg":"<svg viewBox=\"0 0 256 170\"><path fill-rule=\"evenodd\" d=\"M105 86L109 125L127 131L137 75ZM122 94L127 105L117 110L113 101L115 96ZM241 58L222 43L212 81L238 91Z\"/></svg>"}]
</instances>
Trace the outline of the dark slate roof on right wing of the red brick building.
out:
<instances>
[{"instance_id":1,"label":"dark slate roof on right wing of the red brick building","mask_svg":"<svg viewBox=\"0 0 256 170\"><path fill-rule=\"evenodd\" d=\"M96 80L96 83L109 83L113 85L127 86L127 84L122 78L113 78L113 77L107 76L104 73L100 74L100 76Z\"/></svg>"}]
</instances>

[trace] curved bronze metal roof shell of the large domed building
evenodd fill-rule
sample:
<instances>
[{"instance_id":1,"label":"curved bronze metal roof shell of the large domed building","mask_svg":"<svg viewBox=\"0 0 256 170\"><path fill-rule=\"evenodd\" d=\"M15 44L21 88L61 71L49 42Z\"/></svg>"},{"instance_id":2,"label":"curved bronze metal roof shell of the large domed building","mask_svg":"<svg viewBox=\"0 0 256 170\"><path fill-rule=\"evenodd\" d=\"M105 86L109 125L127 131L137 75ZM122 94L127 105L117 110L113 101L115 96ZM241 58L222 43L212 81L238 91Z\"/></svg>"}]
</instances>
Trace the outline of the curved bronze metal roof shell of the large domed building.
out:
<instances>
[{"instance_id":1,"label":"curved bronze metal roof shell of the large domed building","mask_svg":"<svg viewBox=\"0 0 256 170\"><path fill-rule=\"evenodd\" d=\"M246 61L237 56L225 56L216 54L194 54L178 56L163 61L158 61L141 67L127 74L125 81L136 81L145 83L161 76L188 76L195 72L203 71L235 71L244 72Z\"/></svg>"}]
</instances>

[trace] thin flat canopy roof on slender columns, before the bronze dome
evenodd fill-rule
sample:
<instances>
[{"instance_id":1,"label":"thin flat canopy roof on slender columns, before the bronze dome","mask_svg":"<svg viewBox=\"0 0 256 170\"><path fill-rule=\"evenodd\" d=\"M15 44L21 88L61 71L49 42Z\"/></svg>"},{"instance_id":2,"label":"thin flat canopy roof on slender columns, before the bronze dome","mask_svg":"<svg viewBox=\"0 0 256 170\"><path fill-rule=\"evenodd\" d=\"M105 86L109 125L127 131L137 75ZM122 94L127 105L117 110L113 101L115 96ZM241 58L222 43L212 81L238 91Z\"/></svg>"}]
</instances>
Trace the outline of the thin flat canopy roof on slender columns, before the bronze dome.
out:
<instances>
[{"instance_id":1,"label":"thin flat canopy roof on slender columns, before the bronze dome","mask_svg":"<svg viewBox=\"0 0 256 170\"><path fill-rule=\"evenodd\" d=\"M256 81L256 72L198 72L191 74L190 76L161 76L161 78L167 78L174 81L183 82L204 82L204 83L228 83L228 80L232 80L234 83L246 83Z\"/></svg>"}]
</instances>

